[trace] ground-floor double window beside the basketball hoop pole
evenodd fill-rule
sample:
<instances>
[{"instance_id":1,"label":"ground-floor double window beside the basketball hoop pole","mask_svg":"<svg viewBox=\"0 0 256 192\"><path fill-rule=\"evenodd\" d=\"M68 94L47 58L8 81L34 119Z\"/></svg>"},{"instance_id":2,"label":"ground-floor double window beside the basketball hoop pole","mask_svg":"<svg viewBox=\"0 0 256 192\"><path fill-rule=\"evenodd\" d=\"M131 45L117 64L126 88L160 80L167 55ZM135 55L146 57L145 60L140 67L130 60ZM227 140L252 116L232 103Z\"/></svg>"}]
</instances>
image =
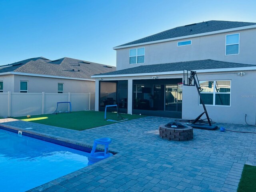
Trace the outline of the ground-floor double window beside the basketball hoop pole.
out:
<instances>
[{"instance_id":1,"label":"ground-floor double window beside the basketball hoop pole","mask_svg":"<svg viewBox=\"0 0 256 192\"><path fill-rule=\"evenodd\" d=\"M199 81L204 104L230 106L230 80ZM199 104L202 104L199 98Z\"/></svg>"}]
</instances>

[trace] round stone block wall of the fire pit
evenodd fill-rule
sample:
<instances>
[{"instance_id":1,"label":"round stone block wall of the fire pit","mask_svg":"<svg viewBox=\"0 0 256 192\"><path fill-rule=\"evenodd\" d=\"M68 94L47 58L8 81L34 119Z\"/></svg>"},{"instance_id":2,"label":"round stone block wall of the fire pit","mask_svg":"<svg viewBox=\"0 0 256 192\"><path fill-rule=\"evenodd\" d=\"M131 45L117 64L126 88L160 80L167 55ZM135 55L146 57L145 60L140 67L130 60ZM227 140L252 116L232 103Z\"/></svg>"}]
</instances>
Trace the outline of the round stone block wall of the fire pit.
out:
<instances>
[{"instance_id":1,"label":"round stone block wall of the fire pit","mask_svg":"<svg viewBox=\"0 0 256 192\"><path fill-rule=\"evenodd\" d=\"M164 125L160 125L159 135L162 139L171 141L188 141L193 139L193 128L168 128Z\"/></svg>"}]
</instances>

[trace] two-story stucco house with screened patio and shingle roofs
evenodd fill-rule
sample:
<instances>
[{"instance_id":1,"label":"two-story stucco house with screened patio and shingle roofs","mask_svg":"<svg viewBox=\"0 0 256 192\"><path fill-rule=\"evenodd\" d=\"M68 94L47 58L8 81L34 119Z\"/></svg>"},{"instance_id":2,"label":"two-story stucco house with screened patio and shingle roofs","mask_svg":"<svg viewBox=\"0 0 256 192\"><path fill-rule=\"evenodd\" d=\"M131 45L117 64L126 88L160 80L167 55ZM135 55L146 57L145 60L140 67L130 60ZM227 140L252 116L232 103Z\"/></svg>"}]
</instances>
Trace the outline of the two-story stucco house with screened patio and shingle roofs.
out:
<instances>
[{"instance_id":1,"label":"two-story stucco house with screened patio and shingle roofs","mask_svg":"<svg viewBox=\"0 0 256 192\"><path fill-rule=\"evenodd\" d=\"M115 100L120 112L194 119L203 112L183 70L197 72L215 122L255 124L256 23L208 21L114 47L117 71L96 78L96 110ZM203 116L204 117L204 116Z\"/></svg>"}]
</instances>

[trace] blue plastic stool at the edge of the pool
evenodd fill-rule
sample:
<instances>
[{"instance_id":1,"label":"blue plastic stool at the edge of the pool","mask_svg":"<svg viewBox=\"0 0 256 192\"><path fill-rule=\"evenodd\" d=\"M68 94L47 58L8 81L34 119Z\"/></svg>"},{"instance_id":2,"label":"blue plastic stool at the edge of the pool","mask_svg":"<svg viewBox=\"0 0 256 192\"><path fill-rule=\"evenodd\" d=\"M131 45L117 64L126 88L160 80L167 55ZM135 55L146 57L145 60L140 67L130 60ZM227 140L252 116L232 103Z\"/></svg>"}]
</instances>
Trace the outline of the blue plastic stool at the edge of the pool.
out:
<instances>
[{"instance_id":1,"label":"blue plastic stool at the edge of the pool","mask_svg":"<svg viewBox=\"0 0 256 192\"><path fill-rule=\"evenodd\" d=\"M113 156L112 153L108 152L108 145L111 143L110 138L100 138L94 140L92 151L90 153L90 156L88 157L88 165L94 164L102 159L106 159L110 156ZM105 145L104 152L95 152L97 144Z\"/></svg>"}]
</instances>

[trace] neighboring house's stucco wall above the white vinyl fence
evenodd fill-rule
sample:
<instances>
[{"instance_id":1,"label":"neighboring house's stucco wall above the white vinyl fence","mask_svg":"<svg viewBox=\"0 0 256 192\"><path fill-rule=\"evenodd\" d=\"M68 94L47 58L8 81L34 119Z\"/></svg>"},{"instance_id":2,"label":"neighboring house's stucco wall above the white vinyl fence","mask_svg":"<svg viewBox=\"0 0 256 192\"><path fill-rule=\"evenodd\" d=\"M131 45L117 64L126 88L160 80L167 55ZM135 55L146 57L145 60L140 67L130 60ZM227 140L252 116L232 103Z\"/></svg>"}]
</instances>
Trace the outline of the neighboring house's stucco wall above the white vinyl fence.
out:
<instances>
[{"instance_id":1,"label":"neighboring house's stucco wall above the white vinyl fence","mask_svg":"<svg viewBox=\"0 0 256 192\"><path fill-rule=\"evenodd\" d=\"M1 76L0 76L1 77ZM58 83L63 83L63 93L94 93L95 82L36 76L14 76L14 92L20 92L20 81L28 81L29 93L57 93Z\"/></svg>"}]
</instances>

